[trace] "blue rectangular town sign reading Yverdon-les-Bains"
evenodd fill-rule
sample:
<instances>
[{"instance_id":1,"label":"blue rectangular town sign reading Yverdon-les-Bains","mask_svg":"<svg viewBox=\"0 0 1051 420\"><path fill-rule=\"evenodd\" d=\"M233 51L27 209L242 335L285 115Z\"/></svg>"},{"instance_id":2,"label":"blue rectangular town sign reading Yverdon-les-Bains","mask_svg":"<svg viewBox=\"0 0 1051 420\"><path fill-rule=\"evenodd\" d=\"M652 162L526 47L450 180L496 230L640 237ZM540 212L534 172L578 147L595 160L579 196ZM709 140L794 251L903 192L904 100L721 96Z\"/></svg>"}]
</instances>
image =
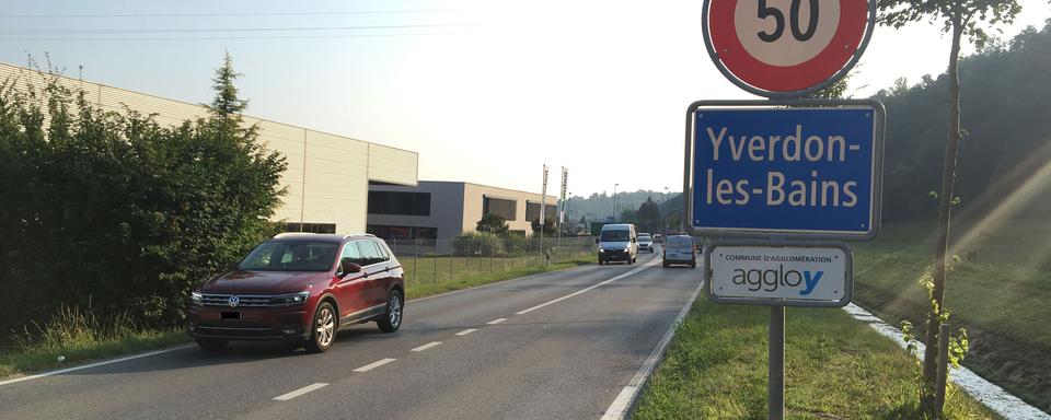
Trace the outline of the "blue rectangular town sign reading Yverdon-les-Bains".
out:
<instances>
[{"instance_id":1,"label":"blue rectangular town sign reading Yverdon-les-Bains","mask_svg":"<svg viewBox=\"0 0 1051 420\"><path fill-rule=\"evenodd\" d=\"M691 105L684 183L695 233L841 240L876 235L882 105L793 104L810 106L767 101Z\"/></svg>"}]
</instances>

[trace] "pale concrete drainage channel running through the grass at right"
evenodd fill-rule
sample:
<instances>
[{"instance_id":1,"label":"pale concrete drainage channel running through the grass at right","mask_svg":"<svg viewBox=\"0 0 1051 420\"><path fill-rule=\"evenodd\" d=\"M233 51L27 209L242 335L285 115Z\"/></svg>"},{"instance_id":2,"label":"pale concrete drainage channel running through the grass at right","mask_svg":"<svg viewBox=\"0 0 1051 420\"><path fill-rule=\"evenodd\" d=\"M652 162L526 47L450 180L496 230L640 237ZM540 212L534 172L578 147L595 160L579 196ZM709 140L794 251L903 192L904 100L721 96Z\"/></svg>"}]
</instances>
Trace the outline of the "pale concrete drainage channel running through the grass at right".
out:
<instances>
[{"instance_id":1,"label":"pale concrete drainage channel running through the grass at right","mask_svg":"<svg viewBox=\"0 0 1051 420\"><path fill-rule=\"evenodd\" d=\"M906 348L908 345L903 339L901 330L885 323L882 319L876 317L876 315L873 315L868 311L865 311L863 307L853 303L843 307L843 311L846 311L846 313L851 314L854 319L868 324L869 327L873 327L873 329L880 335L894 340L894 342L897 342L902 349ZM920 347L916 349L915 357L922 358L926 346L924 346L922 342L920 342L919 346ZM1008 394L1006 390L1004 390L1004 388L985 381L974 372L971 372L970 369L960 368L959 370L951 371L949 373L949 380L959 387L963 388L965 392L974 397L974 399L977 399L979 402L984 404L986 407L1004 418L1019 420L1051 420L1051 415L1048 415L1047 412L1026 404L1026 401L1023 401L1020 398Z\"/></svg>"}]
</instances>

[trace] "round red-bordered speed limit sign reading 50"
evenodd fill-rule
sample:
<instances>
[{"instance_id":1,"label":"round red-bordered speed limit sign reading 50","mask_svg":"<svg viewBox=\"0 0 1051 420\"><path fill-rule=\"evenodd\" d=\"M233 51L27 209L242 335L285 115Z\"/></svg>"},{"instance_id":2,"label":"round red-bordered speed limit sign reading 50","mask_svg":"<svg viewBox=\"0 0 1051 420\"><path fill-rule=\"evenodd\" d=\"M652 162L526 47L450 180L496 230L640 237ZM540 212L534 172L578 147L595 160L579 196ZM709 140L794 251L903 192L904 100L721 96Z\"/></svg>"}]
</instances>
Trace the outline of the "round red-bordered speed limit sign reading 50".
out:
<instances>
[{"instance_id":1,"label":"round red-bordered speed limit sign reading 50","mask_svg":"<svg viewBox=\"0 0 1051 420\"><path fill-rule=\"evenodd\" d=\"M834 83L857 62L876 0L705 0L704 43L731 82L766 97Z\"/></svg>"}]
</instances>

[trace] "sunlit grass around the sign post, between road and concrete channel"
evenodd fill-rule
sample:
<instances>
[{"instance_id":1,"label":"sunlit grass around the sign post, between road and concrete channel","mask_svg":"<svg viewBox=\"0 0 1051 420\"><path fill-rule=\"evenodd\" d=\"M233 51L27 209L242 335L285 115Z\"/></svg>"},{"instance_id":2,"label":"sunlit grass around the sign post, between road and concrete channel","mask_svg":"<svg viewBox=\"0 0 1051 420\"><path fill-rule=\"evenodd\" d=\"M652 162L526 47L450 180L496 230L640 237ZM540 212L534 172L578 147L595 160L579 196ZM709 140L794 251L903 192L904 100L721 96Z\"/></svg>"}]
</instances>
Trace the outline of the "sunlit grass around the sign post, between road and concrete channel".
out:
<instances>
[{"instance_id":1,"label":"sunlit grass around the sign post, between road and concrete channel","mask_svg":"<svg viewBox=\"0 0 1051 420\"><path fill-rule=\"evenodd\" d=\"M765 419L767 323L762 306L697 300L649 380L635 419ZM840 310L788 308L789 419L916 419L915 359ZM950 393L946 419L995 419Z\"/></svg>"}]
</instances>

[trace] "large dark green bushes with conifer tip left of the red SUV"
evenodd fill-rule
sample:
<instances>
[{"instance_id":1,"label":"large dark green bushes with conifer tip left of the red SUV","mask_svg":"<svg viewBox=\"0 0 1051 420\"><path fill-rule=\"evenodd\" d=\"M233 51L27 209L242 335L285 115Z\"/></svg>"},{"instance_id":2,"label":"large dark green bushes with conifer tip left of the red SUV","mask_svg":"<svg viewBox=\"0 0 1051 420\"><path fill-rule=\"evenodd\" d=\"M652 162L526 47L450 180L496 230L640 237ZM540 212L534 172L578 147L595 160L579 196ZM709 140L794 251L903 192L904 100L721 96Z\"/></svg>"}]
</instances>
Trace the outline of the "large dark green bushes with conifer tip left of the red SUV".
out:
<instances>
[{"instance_id":1,"label":"large dark green bushes with conifer tip left of the red SUV","mask_svg":"<svg viewBox=\"0 0 1051 420\"><path fill-rule=\"evenodd\" d=\"M177 127L54 74L0 82L0 289L18 291L0 331L77 306L177 325L194 287L275 233L285 159L243 127L235 78L228 57L209 117Z\"/></svg>"}]
</instances>

